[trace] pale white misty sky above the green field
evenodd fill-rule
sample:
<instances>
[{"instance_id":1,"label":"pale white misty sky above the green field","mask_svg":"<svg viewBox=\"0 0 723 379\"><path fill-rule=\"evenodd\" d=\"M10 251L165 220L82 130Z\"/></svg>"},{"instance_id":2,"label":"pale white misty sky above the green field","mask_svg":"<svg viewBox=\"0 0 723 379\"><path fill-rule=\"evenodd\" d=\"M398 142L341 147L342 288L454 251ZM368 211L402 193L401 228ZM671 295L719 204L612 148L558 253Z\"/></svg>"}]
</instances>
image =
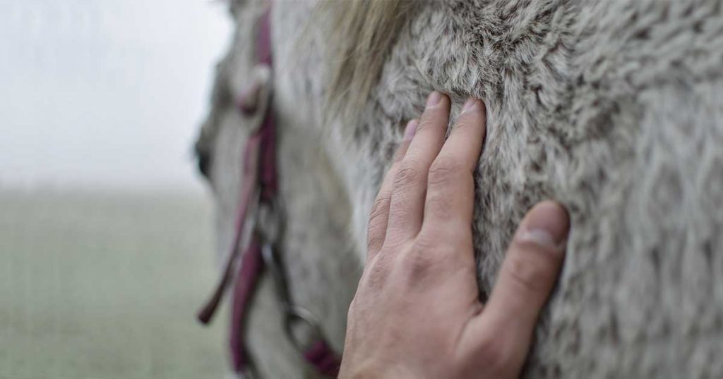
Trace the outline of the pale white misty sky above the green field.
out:
<instances>
[{"instance_id":1,"label":"pale white misty sky above the green field","mask_svg":"<svg viewBox=\"0 0 723 379\"><path fill-rule=\"evenodd\" d=\"M0 185L201 188L222 2L0 3Z\"/></svg>"}]
</instances>

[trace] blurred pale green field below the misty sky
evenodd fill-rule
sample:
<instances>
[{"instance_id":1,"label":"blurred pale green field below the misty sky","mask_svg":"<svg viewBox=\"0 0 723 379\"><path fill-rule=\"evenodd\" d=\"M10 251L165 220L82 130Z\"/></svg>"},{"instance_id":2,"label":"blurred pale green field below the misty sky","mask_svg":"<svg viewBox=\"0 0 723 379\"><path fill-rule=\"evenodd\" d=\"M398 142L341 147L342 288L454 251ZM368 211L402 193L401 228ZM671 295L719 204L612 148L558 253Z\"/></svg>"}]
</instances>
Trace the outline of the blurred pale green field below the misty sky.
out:
<instances>
[{"instance_id":1,"label":"blurred pale green field below the misty sky","mask_svg":"<svg viewBox=\"0 0 723 379\"><path fill-rule=\"evenodd\" d=\"M200 195L0 190L0 378L222 378L212 227Z\"/></svg>"}]
</instances>

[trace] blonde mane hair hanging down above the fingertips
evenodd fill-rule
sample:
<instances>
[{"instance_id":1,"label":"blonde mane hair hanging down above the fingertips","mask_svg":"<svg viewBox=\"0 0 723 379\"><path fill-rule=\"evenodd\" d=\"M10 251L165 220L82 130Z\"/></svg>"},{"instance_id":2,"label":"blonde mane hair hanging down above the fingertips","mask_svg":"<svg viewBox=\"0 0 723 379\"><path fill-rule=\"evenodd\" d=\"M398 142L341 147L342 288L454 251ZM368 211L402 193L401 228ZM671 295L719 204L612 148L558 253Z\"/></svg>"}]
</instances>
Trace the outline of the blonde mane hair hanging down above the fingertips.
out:
<instances>
[{"instance_id":1,"label":"blonde mane hair hanging down above the fingertips","mask_svg":"<svg viewBox=\"0 0 723 379\"><path fill-rule=\"evenodd\" d=\"M321 1L318 17L331 20L328 116L358 116L413 6L414 0Z\"/></svg>"}]
</instances>

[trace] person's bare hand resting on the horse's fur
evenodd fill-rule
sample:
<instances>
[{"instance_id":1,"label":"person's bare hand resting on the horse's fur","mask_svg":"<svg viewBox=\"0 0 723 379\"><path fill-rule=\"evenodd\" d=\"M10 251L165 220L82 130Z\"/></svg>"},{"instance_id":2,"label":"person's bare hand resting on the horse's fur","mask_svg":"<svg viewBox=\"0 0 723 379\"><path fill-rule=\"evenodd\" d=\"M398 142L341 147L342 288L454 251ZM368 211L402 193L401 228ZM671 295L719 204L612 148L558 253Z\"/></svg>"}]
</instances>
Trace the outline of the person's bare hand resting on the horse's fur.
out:
<instances>
[{"instance_id":1,"label":"person's bare hand resting on the horse's fur","mask_svg":"<svg viewBox=\"0 0 723 379\"><path fill-rule=\"evenodd\" d=\"M471 225L486 110L470 99L445 139L449 113L447 96L429 95L382 183L340 378L520 375L562 266L568 213L553 201L529 211L482 304Z\"/></svg>"}]
</instances>

